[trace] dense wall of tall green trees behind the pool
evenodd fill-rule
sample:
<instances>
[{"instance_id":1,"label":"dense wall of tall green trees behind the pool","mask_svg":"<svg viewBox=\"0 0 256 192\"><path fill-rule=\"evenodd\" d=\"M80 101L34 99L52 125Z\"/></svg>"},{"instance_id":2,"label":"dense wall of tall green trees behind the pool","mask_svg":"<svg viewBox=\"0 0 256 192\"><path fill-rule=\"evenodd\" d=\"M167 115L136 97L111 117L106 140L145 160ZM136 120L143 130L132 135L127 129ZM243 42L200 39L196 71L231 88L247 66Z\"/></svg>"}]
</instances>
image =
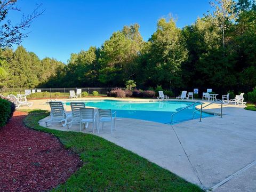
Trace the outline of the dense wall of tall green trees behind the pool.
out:
<instances>
[{"instance_id":1,"label":"dense wall of tall green trees behind the pool","mask_svg":"<svg viewBox=\"0 0 256 192\"><path fill-rule=\"evenodd\" d=\"M214 14L182 29L173 18L159 19L146 42L138 24L124 26L101 47L72 53L67 65L50 58L39 60L23 47L14 52L6 49L4 69L10 75L2 84L123 87L133 80L138 89L162 85L176 93L193 88L200 92L212 88L220 94L249 92L256 86L255 3L218 0L212 5Z\"/></svg>"}]
</instances>

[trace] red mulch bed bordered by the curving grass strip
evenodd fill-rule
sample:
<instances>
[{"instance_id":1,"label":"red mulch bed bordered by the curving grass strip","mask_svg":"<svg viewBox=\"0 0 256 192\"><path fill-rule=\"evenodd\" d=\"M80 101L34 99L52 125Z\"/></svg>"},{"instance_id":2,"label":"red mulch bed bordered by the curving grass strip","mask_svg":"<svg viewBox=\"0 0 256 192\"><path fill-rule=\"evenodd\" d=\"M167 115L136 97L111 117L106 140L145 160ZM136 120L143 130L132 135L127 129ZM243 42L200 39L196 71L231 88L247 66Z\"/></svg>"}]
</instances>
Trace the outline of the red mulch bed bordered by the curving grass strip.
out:
<instances>
[{"instance_id":1,"label":"red mulch bed bordered by the curving grass strip","mask_svg":"<svg viewBox=\"0 0 256 192\"><path fill-rule=\"evenodd\" d=\"M43 191L65 182L79 167L78 155L51 134L23 125L15 111L0 129L0 191Z\"/></svg>"}]
</instances>

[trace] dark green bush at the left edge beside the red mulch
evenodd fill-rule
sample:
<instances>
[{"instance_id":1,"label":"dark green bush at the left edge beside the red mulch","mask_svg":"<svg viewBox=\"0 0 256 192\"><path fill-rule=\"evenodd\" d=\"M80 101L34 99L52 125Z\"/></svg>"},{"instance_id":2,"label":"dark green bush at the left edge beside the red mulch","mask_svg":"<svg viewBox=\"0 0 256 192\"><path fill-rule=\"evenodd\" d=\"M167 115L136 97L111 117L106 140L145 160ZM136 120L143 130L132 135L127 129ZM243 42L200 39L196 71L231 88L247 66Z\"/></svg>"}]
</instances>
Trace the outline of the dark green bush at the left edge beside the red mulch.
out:
<instances>
[{"instance_id":1,"label":"dark green bush at the left edge beside the red mulch","mask_svg":"<svg viewBox=\"0 0 256 192\"><path fill-rule=\"evenodd\" d=\"M4 126L11 116L11 102L0 98L0 127Z\"/></svg>"}]
</instances>

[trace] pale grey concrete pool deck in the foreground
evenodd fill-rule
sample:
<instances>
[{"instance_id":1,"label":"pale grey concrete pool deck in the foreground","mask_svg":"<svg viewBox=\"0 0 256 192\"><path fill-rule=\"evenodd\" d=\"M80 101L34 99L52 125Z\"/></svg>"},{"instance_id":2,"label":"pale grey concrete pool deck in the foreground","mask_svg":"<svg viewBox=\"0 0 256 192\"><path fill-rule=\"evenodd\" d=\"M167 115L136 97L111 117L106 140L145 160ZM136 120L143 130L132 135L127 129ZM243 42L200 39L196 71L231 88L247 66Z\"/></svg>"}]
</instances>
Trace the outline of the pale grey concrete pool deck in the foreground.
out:
<instances>
[{"instance_id":1,"label":"pale grey concrete pool deck in the foreground","mask_svg":"<svg viewBox=\"0 0 256 192\"><path fill-rule=\"evenodd\" d=\"M49 107L36 105L34 107L40 109ZM215 104L207 110L218 112L219 107ZM256 113L234 105L223 107L223 118L208 117L202 122L194 119L172 126L117 118L116 131L112 135L108 123L103 131L100 126L100 134L95 135L131 150L204 189L255 191ZM45 126L44 121L42 119L39 124ZM75 124L69 130L60 124L52 124L49 128L79 131ZM91 133L91 125L83 132Z\"/></svg>"}]
</instances>

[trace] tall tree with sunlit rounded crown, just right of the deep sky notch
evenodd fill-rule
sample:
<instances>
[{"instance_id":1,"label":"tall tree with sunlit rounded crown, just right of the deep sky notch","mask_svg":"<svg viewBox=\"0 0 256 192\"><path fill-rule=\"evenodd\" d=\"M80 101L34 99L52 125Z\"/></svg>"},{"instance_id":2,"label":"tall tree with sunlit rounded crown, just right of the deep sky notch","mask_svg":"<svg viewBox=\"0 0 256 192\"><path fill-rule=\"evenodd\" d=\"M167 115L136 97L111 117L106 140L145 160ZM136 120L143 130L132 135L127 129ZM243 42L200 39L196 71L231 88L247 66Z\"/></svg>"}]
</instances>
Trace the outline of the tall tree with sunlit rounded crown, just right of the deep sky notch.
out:
<instances>
[{"instance_id":1,"label":"tall tree with sunlit rounded crown, just right of the deep sky notch","mask_svg":"<svg viewBox=\"0 0 256 192\"><path fill-rule=\"evenodd\" d=\"M187 50L181 34L171 18L157 22L157 30L150 38L149 57L147 61L148 80L153 86L180 87L181 63L187 59Z\"/></svg>"}]
</instances>

